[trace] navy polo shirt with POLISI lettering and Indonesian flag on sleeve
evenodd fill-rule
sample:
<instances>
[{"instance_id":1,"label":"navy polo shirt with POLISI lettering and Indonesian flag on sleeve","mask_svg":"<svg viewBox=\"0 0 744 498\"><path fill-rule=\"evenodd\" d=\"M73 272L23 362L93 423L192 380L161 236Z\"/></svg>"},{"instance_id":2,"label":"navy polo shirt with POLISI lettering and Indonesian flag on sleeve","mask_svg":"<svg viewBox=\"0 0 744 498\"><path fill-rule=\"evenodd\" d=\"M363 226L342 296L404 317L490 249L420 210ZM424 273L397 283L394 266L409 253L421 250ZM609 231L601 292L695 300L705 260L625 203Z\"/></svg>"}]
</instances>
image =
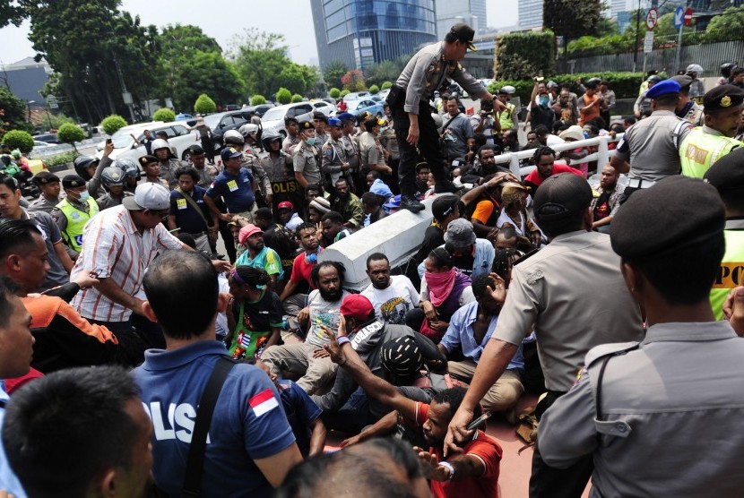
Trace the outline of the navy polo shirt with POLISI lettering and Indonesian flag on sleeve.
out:
<instances>
[{"instance_id":1,"label":"navy polo shirt with POLISI lettering and Indonesian flag on sleeve","mask_svg":"<svg viewBox=\"0 0 744 498\"><path fill-rule=\"evenodd\" d=\"M150 349L132 372L152 420L152 473L157 485L177 496L184 484L196 407L220 356L216 340L172 351ZM272 496L273 488L255 466L288 448L292 434L282 401L264 371L238 364L228 374L209 428L202 491L209 496Z\"/></svg>"}]
</instances>

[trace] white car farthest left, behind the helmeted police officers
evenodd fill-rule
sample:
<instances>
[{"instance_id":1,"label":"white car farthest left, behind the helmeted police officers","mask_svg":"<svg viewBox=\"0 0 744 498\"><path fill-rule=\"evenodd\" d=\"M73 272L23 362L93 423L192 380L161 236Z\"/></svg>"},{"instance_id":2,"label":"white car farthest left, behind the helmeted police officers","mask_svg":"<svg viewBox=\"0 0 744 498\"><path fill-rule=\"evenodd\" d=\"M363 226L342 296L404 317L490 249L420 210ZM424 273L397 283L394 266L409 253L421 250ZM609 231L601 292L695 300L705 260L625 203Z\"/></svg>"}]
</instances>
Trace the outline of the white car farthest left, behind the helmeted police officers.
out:
<instances>
[{"instance_id":1,"label":"white car farthest left, behind the helmeted police officers","mask_svg":"<svg viewBox=\"0 0 744 498\"><path fill-rule=\"evenodd\" d=\"M147 150L140 142L144 138L145 130L150 130L152 138L156 138L155 134L158 132L167 133L168 143L171 149L175 149L177 159L181 160L186 160L188 156L186 150L189 146L200 143L199 133L192 132L185 121L174 121L171 123L153 121L151 123L125 126L118 130L117 133L111 135L111 140L114 142L114 151L109 157L111 159L126 158L137 160L146 155ZM97 149L99 152L96 154L98 158L103 155L103 147L105 145L105 141L98 144Z\"/></svg>"}]
</instances>

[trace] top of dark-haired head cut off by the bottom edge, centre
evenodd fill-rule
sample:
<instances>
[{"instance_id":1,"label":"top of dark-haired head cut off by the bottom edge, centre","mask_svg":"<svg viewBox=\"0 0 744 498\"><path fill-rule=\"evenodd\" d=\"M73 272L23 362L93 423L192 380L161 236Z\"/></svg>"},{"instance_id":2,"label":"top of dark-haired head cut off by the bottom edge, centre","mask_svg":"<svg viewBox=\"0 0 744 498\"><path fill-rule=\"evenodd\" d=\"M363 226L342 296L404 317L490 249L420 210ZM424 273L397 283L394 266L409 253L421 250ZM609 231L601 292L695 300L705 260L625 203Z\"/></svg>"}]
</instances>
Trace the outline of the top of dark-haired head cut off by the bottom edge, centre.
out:
<instances>
[{"instance_id":1,"label":"top of dark-haired head cut off by the bottom edge, centre","mask_svg":"<svg viewBox=\"0 0 744 498\"><path fill-rule=\"evenodd\" d=\"M349 476L353 475L353 479ZM376 439L344 451L316 455L292 468L275 498L324 498L329 483L336 498L405 496L429 498L428 483L411 447Z\"/></svg>"}]
</instances>

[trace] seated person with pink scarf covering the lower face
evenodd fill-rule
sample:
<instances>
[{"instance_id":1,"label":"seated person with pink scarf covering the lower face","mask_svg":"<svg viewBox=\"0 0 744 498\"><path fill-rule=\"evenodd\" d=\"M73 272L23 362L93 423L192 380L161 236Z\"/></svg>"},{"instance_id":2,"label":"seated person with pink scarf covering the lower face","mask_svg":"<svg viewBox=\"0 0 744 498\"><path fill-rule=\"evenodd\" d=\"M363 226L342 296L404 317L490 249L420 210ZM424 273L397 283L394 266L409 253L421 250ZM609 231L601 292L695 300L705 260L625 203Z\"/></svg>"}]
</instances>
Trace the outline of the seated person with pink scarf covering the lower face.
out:
<instances>
[{"instance_id":1,"label":"seated person with pink scarf covering the lower face","mask_svg":"<svg viewBox=\"0 0 744 498\"><path fill-rule=\"evenodd\" d=\"M405 322L414 331L439 342L453 313L475 301L475 297L470 277L455 268L452 255L444 247L428 253L424 268L419 308L406 313Z\"/></svg>"}]
</instances>

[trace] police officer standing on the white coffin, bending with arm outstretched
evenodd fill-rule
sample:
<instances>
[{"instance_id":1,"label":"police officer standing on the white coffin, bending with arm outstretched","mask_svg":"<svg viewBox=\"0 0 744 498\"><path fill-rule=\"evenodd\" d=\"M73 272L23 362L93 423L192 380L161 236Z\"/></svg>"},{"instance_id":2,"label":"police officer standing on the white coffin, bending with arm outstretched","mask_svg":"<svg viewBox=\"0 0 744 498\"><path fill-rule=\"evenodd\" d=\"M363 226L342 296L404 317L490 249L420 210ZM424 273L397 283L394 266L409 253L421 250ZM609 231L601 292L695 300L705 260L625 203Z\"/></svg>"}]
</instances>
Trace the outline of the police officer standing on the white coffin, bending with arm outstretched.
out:
<instances>
[{"instance_id":1,"label":"police officer standing on the white coffin, bending with arm outstretched","mask_svg":"<svg viewBox=\"0 0 744 498\"><path fill-rule=\"evenodd\" d=\"M387 103L393 111L395 136L401 152L398 177L401 185L401 207L418 212L424 205L416 200L416 163L419 151L427 159L437 179L435 192L456 192L447 179L445 159L439 146L439 133L431 118L428 101L436 90L450 80L460 83L471 97L493 100L488 90L463 69L463 60L472 44L475 31L467 24L457 23L447 32L444 41L423 47L406 64L390 93ZM498 110L504 108L495 102Z\"/></svg>"}]
</instances>

